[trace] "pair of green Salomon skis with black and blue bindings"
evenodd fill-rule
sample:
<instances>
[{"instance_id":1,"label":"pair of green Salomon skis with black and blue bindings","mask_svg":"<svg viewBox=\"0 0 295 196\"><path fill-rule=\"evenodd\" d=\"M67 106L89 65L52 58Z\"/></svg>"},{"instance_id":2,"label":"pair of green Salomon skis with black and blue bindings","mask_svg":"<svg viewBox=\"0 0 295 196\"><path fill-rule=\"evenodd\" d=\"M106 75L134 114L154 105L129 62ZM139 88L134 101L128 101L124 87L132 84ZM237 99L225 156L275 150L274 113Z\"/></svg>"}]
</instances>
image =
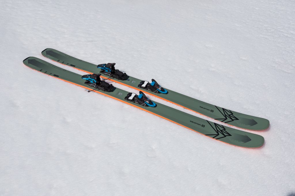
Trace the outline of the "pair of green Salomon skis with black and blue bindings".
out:
<instances>
[{"instance_id":1,"label":"pair of green Salomon skis with black and blue bindings","mask_svg":"<svg viewBox=\"0 0 295 196\"><path fill-rule=\"evenodd\" d=\"M229 125L248 130L264 130L268 128L269 121L264 118L237 113L182 95L161 87L155 80L152 80L150 83L148 81L128 76L126 73L122 73L119 70L114 69L114 63L100 64L97 66L51 48L47 48L42 51L42 55L53 61L57 61L64 65L87 72L89 75L81 76L63 68L54 66L36 57L28 57L23 62L26 66L32 69L89 89L89 91L94 91L117 99L216 140L247 148L258 148L264 143L264 138L260 135L236 130L230 127L224 127L223 125L212 123L166 105L153 102L149 100L144 93L175 103L183 108L206 115ZM101 78L109 79L125 86L140 90L140 94L136 95L135 93L130 93L112 86L108 91L104 91L104 88L102 87L98 88L100 83L95 80L98 79L97 74L95 73L99 72L101 74ZM85 80L87 81L85 82ZM97 83L91 83L93 80ZM98 84L98 86L96 86L96 84Z\"/></svg>"}]
</instances>

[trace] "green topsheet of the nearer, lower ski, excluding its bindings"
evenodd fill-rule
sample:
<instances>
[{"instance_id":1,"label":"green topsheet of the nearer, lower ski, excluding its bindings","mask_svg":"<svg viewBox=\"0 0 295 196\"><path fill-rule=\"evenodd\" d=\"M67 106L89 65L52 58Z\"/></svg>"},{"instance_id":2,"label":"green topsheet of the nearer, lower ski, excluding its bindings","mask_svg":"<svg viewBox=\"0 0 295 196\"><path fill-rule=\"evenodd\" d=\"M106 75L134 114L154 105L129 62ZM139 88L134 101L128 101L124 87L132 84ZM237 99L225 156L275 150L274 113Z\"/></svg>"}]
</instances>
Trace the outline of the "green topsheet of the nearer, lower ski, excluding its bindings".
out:
<instances>
[{"instance_id":1,"label":"green topsheet of the nearer, lower ski, excluding its bindings","mask_svg":"<svg viewBox=\"0 0 295 196\"><path fill-rule=\"evenodd\" d=\"M89 90L95 89L94 87L85 84L85 80L81 78L81 75L54 66L39 58L28 57L23 61L23 63L26 66L39 72L45 73L49 76L61 79L63 81L81 86ZM214 138L224 143L229 143L246 148L258 148L264 143L264 138L260 135L236 130L230 127L224 127L223 125L209 122L207 120L171 108L167 105L154 102L156 104L156 107L144 107L142 105L130 102L124 99L129 92L116 87L113 87L113 90L111 92L101 91L97 89L94 92L122 101L136 108L140 108L149 113L157 115L161 118L169 120L188 129L199 132L203 135L207 135L208 137Z\"/></svg>"}]
</instances>

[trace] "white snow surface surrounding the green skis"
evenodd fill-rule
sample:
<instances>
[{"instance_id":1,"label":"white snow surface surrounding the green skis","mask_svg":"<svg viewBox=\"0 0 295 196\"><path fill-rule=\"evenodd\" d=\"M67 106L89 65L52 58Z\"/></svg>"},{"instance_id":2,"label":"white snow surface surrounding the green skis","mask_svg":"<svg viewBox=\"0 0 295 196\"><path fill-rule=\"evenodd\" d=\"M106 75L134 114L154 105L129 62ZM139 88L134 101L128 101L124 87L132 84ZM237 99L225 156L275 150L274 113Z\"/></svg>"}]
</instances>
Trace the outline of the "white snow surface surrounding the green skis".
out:
<instances>
[{"instance_id":1,"label":"white snow surface surrounding the green skis","mask_svg":"<svg viewBox=\"0 0 295 196\"><path fill-rule=\"evenodd\" d=\"M295 195L295 1L0 6L0 195ZM267 118L250 131L265 145L214 141L23 65L50 61L45 48Z\"/></svg>"}]
</instances>

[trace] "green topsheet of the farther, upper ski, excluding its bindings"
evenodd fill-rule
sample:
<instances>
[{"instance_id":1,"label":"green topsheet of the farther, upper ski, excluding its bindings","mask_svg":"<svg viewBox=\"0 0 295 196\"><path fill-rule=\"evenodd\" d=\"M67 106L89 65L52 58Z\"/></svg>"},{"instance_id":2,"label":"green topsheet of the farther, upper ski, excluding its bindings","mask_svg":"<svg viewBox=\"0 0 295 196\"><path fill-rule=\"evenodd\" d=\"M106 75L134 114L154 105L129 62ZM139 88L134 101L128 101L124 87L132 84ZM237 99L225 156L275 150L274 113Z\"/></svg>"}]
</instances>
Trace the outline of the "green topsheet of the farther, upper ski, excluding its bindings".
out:
<instances>
[{"instance_id":1,"label":"green topsheet of the farther, upper ski, excluding its bindings","mask_svg":"<svg viewBox=\"0 0 295 196\"><path fill-rule=\"evenodd\" d=\"M78 58L74 58L72 56L69 56L65 53L62 53L52 48L47 48L44 51L42 51L42 55L47 58L50 58L53 61L57 61L64 65L77 68L87 73L100 72L100 69L97 68L97 65L88 63L86 61L82 61ZM101 77L109 78L108 75L104 75L103 73ZM110 80L131 88L135 88L140 91L144 91L147 94L175 103L176 105L180 105L183 108L192 110L199 114L208 116L215 120L219 120L221 122L224 122L239 128L244 128L248 130L264 130L264 129L267 129L269 126L269 121L267 119L234 112L232 110L221 108L216 105L205 103L203 101L191 98L189 96L185 96L183 94L171 91L165 87L164 88L168 91L167 94L153 93L151 91L147 91L145 89L138 87L138 85L140 84L142 80L133 78L131 76L129 76L127 80L118 80L116 78L111 78Z\"/></svg>"}]
</instances>

